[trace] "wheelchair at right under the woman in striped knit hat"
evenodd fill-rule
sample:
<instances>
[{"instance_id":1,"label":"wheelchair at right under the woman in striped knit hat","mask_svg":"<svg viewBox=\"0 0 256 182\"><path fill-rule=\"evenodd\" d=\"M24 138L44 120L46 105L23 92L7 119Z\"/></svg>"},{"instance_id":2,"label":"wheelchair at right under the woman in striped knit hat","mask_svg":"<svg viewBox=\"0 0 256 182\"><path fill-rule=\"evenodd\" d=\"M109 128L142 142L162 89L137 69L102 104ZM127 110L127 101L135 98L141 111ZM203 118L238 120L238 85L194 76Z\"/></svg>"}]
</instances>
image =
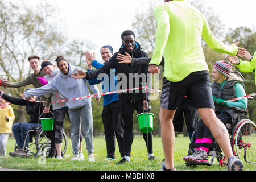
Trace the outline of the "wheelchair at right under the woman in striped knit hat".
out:
<instances>
[{"instance_id":1,"label":"wheelchair at right under the woman in striped knit hat","mask_svg":"<svg viewBox=\"0 0 256 182\"><path fill-rule=\"evenodd\" d=\"M253 98L249 98L253 100ZM226 124L226 128L230 137L230 144L232 146L232 151L234 156L240 159L243 163L253 163L256 164L255 149L256 149L256 125L247 117L247 110L238 107L232 107L233 110L238 112L238 119L236 123ZM208 165L212 166L214 159L216 158L221 166L226 164L225 156L222 155L220 146L218 146L216 140L213 143L195 143L196 131L194 131L191 143L189 144L188 155L191 155L195 148L197 147L207 147L210 148L208 156L211 159L208 163L195 163L195 162L185 162L187 166L191 165ZM209 160L209 159L208 159Z\"/></svg>"}]
</instances>

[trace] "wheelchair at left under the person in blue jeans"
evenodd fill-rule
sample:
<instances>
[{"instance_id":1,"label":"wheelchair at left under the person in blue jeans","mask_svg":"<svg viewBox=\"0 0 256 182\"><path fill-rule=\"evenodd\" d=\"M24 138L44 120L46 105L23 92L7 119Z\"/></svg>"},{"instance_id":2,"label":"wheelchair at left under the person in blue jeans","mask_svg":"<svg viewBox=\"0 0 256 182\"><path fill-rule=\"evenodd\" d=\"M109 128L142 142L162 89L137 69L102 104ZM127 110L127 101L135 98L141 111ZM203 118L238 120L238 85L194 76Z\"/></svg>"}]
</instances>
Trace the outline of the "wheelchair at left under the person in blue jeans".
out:
<instances>
[{"instance_id":1,"label":"wheelchair at left under the person in blue jeans","mask_svg":"<svg viewBox=\"0 0 256 182\"><path fill-rule=\"evenodd\" d=\"M26 140L29 137L28 146L26 146ZM18 146L15 144L14 152L18 149ZM49 151L51 150L51 133L49 131L44 131L42 127L34 127L33 129L28 130L26 138L23 144L23 152L26 157L37 158L39 156L47 157ZM67 150L67 136L63 132L63 144L61 148L61 155L65 154Z\"/></svg>"}]
</instances>

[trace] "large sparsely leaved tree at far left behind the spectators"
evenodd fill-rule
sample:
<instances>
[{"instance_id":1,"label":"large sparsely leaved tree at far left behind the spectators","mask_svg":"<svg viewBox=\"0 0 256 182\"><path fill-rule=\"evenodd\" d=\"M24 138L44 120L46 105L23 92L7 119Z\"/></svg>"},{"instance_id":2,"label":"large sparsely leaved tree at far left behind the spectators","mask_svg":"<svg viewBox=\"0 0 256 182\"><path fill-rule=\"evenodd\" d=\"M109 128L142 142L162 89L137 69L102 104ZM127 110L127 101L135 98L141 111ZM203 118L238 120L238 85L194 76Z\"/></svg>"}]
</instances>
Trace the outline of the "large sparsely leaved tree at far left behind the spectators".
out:
<instances>
[{"instance_id":1,"label":"large sparsely leaved tree at far left behind the spectators","mask_svg":"<svg viewBox=\"0 0 256 182\"><path fill-rule=\"evenodd\" d=\"M27 57L33 54L51 57L51 49L63 43L64 36L49 23L54 11L47 3L30 9L26 3L15 5L0 1L0 76L10 82L23 80L30 73ZM7 89L19 97L24 88ZM24 107L18 107L16 121L26 121Z\"/></svg>"}]
</instances>

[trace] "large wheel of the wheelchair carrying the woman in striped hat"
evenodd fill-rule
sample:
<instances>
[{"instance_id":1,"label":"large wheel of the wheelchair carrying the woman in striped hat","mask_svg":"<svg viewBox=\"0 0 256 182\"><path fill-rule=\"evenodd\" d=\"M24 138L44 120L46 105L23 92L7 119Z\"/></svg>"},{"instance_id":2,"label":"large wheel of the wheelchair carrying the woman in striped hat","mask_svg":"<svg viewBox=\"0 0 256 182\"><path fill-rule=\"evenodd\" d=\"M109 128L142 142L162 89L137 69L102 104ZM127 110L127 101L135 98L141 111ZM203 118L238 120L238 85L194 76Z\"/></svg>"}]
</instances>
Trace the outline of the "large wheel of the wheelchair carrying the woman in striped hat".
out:
<instances>
[{"instance_id":1,"label":"large wheel of the wheelchair carrying the woman in striped hat","mask_svg":"<svg viewBox=\"0 0 256 182\"><path fill-rule=\"evenodd\" d=\"M233 131L233 152L242 162L256 164L256 125L249 119L242 119Z\"/></svg>"}]
</instances>

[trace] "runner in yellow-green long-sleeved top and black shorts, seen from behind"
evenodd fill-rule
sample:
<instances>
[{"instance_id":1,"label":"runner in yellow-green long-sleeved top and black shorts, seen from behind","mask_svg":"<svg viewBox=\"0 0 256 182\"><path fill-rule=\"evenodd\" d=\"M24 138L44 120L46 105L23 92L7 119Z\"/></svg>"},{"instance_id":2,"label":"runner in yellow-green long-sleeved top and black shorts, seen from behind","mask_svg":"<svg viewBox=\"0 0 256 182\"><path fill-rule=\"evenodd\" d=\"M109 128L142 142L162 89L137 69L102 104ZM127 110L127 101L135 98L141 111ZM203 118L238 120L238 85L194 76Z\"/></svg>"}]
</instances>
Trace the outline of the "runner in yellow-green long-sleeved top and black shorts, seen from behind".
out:
<instances>
[{"instance_id":1,"label":"runner in yellow-green long-sleeved top and black shorts, seen from behind","mask_svg":"<svg viewBox=\"0 0 256 182\"><path fill-rule=\"evenodd\" d=\"M201 38L215 51L242 57L245 49L236 44L225 45L210 31L204 15L196 7L183 0L164 0L155 8L155 49L148 71L159 73L158 65L164 57L164 80L159 120L164 150L163 170L174 168L175 134L172 119L181 100L187 96L196 107L205 125L212 131L228 159L228 170L241 169L243 164L234 157L228 131L214 113L210 90L210 78L205 62Z\"/></svg>"}]
</instances>

